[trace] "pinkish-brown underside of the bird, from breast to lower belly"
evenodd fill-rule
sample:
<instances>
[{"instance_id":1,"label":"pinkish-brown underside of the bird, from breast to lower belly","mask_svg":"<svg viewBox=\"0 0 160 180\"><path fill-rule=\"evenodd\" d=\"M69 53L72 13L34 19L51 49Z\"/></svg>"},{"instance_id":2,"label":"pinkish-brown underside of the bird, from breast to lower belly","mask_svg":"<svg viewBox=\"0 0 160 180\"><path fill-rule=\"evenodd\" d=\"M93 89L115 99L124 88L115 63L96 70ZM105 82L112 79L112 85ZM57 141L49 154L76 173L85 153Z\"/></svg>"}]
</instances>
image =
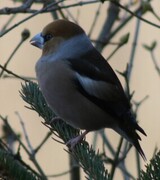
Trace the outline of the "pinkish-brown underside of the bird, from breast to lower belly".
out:
<instances>
[{"instance_id":1,"label":"pinkish-brown underside of the bird, from breast to lower belly","mask_svg":"<svg viewBox=\"0 0 160 180\"><path fill-rule=\"evenodd\" d=\"M52 72L47 72L49 76L37 74L42 93L56 115L80 129L97 130L113 126L114 119L84 97L73 84L73 73L65 71L59 65L57 68L54 66Z\"/></svg>"}]
</instances>

